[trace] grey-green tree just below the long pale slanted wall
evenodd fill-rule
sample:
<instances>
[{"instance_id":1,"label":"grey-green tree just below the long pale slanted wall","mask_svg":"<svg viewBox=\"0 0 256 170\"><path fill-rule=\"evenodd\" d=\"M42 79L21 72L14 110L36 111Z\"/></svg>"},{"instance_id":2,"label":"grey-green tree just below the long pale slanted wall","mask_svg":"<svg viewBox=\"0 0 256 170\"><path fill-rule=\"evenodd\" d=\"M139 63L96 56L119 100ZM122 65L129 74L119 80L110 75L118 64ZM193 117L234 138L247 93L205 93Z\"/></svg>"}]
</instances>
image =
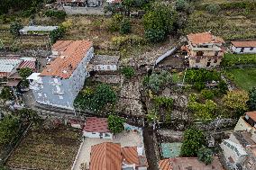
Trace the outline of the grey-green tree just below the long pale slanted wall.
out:
<instances>
[{"instance_id":1,"label":"grey-green tree just below the long pale slanted wall","mask_svg":"<svg viewBox=\"0 0 256 170\"><path fill-rule=\"evenodd\" d=\"M155 93L160 91L160 88L171 82L171 75L168 71L161 71L160 74L153 73L149 78L145 78L148 82L144 81L143 84L151 88Z\"/></svg>"}]
</instances>

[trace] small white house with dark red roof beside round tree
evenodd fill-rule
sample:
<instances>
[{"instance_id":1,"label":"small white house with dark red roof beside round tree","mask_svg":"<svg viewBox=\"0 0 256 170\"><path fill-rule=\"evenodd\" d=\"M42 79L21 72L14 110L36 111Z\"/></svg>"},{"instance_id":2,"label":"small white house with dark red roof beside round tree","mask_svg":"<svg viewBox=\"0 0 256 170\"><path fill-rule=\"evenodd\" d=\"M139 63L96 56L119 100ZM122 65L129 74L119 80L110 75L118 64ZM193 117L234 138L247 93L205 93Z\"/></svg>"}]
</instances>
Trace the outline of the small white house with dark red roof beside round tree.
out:
<instances>
[{"instance_id":1,"label":"small white house with dark red roof beside round tree","mask_svg":"<svg viewBox=\"0 0 256 170\"><path fill-rule=\"evenodd\" d=\"M113 139L114 134L108 130L106 118L87 118L83 130L83 136L96 139Z\"/></svg>"}]
</instances>

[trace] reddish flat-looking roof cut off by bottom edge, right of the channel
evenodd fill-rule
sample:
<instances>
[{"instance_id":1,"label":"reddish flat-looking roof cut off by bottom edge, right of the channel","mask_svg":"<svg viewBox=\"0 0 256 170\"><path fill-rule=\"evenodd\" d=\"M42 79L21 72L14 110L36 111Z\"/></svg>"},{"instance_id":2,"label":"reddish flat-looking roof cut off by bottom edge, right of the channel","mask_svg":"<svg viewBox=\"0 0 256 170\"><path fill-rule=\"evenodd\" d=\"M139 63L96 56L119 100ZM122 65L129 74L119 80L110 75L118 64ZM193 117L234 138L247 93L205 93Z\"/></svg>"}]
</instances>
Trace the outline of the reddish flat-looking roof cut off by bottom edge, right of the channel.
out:
<instances>
[{"instance_id":1,"label":"reddish flat-looking roof cut off by bottom edge, right of the channel","mask_svg":"<svg viewBox=\"0 0 256 170\"><path fill-rule=\"evenodd\" d=\"M214 157L213 163L206 166L198 161L197 157L175 157L163 159L159 162L160 170L224 170L218 157Z\"/></svg>"}]
</instances>

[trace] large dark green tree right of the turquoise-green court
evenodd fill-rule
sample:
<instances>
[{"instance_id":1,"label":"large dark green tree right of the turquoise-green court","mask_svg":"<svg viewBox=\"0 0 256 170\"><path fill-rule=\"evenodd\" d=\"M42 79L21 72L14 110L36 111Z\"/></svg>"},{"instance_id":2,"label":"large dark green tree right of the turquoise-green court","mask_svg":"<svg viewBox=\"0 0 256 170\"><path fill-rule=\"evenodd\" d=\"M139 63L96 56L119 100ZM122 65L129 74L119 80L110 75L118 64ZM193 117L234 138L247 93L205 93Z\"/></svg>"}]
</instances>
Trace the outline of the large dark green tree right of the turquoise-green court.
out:
<instances>
[{"instance_id":1,"label":"large dark green tree right of the turquoise-green court","mask_svg":"<svg viewBox=\"0 0 256 170\"><path fill-rule=\"evenodd\" d=\"M185 130L183 142L181 146L181 156L196 157L197 151L206 144L203 131L197 130L195 127Z\"/></svg>"}]
</instances>

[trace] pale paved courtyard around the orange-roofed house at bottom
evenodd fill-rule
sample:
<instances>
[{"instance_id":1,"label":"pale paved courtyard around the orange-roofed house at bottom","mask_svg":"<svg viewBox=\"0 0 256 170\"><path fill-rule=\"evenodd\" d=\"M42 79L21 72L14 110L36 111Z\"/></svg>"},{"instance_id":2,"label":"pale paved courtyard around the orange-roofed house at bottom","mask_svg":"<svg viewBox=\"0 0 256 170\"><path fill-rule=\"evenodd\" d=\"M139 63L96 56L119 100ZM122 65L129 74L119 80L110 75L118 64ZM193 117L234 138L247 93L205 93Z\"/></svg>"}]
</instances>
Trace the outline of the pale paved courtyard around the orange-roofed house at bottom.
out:
<instances>
[{"instance_id":1,"label":"pale paved courtyard around the orange-roofed house at bottom","mask_svg":"<svg viewBox=\"0 0 256 170\"><path fill-rule=\"evenodd\" d=\"M120 143L121 147L134 147L134 146L143 147L141 134L133 131L130 131L130 132L123 131L122 133L115 135L114 140L86 138L85 141L83 141L82 143L82 147L80 149L80 152L78 153L77 162L75 163L75 166L72 170L80 170L80 165L82 163L86 163L87 166L89 166L91 147L103 142Z\"/></svg>"}]
</instances>

